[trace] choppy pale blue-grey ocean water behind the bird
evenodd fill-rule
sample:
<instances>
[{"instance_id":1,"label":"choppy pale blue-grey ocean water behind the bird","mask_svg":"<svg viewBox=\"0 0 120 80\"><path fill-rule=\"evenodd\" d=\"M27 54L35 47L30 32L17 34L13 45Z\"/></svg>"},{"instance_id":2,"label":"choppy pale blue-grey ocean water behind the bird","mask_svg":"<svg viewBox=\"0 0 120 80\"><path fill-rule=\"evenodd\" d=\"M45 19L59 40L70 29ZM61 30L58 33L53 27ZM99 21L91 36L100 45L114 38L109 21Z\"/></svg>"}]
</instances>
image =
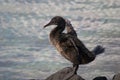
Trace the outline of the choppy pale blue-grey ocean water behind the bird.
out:
<instances>
[{"instance_id":1,"label":"choppy pale blue-grey ocean water behind the bird","mask_svg":"<svg viewBox=\"0 0 120 80\"><path fill-rule=\"evenodd\" d=\"M105 53L80 65L86 80L120 72L120 0L0 0L0 80L45 79L72 64L49 42L54 16L71 21L78 37Z\"/></svg>"}]
</instances>

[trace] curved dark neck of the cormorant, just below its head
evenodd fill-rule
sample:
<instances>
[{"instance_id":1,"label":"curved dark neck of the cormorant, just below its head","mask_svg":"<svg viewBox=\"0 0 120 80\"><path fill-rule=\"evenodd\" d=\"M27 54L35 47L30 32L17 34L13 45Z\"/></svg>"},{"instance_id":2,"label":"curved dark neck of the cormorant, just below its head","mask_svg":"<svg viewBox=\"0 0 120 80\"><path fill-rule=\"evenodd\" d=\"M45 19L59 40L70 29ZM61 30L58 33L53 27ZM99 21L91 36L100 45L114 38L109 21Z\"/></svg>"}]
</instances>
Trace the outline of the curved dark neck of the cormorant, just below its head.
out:
<instances>
[{"instance_id":1,"label":"curved dark neck of the cormorant, just below its head","mask_svg":"<svg viewBox=\"0 0 120 80\"><path fill-rule=\"evenodd\" d=\"M50 33L50 37L54 38L54 37L57 37L59 36L60 34L62 34L62 32L64 31L65 29L65 24L60 24L58 25L57 27L55 27L51 33Z\"/></svg>"}]
</instances>

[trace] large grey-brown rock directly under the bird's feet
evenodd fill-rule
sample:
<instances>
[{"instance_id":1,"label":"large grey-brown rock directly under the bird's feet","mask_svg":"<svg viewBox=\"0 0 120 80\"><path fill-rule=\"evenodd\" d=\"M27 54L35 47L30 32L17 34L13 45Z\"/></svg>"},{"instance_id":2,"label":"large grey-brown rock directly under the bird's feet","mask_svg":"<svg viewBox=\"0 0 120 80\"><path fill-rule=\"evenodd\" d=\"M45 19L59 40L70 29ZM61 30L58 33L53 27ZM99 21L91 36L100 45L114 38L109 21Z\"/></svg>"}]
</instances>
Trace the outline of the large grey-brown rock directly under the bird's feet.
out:
<instances>
[{"instance_id":1,"label":"large grey-brown rock directly under the bird's feet","mask_svg":"<svg viewBox=\"0 0 120 80\"><path fill-rule=\"evenodd\" d=\"M47 79L45 80L63 80L63 78L72 71L72 68L70 67L66 67L54 74L52 74L51 76L49 76ZM79 75L73 75L69 80L84 80L82 77L80 77Z\"/></svg>"}]
</instances>

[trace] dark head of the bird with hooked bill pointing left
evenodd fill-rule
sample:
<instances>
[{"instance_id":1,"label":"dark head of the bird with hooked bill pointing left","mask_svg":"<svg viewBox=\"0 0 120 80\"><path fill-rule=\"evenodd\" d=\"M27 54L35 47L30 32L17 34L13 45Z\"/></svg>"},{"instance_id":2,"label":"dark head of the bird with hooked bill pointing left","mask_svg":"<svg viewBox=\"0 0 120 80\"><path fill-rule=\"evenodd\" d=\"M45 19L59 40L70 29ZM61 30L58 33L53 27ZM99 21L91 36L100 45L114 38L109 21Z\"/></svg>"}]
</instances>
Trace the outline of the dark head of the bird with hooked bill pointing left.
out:
<instances>
[{"instance_id":1,"label":"dark head of the bird with hooked bill pointing left","mask_svg":"<svg viewBox=\"0 0 120 80\"><path fill-rule=\"evenodd\" d=\"M44 26L44 28L50 25L61 25L61 24L65 24L65 19L61 16L55 16L51 19L51 21L48 24Z\"/></svg>"}]
</instances>

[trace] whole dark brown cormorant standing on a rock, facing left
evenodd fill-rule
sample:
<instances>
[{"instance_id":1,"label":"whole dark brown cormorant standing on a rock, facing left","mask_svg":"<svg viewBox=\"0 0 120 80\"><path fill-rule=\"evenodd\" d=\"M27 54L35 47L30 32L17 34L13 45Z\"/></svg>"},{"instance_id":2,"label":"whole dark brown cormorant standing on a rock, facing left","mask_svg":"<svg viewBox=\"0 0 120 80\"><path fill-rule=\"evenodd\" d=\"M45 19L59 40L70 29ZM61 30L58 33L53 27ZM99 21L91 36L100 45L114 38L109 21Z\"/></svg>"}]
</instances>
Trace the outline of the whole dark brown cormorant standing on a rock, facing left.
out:
<instances>
[{"instance_id":1,"label":"whole dark brown cormorant standing on a rock, facing left","mask_svg":"<svg viewBox=\"0 0 120 80\"><path fill-rule=\"evenodd\" d=\"M65 18L55 16L44 25L44 28L51 25L56 25L56 27L50 32L50 42L64 58L73 63L72 73L63 80L68 80L74 74L77 74L79 65L92 62L96 55L104 52L104 48L100 45L94 48L93 51L88 50L83 42L78 39L77 33L70 21ZM67 33L63 32L65 28Z\"/></svg>"}]
</instances>

